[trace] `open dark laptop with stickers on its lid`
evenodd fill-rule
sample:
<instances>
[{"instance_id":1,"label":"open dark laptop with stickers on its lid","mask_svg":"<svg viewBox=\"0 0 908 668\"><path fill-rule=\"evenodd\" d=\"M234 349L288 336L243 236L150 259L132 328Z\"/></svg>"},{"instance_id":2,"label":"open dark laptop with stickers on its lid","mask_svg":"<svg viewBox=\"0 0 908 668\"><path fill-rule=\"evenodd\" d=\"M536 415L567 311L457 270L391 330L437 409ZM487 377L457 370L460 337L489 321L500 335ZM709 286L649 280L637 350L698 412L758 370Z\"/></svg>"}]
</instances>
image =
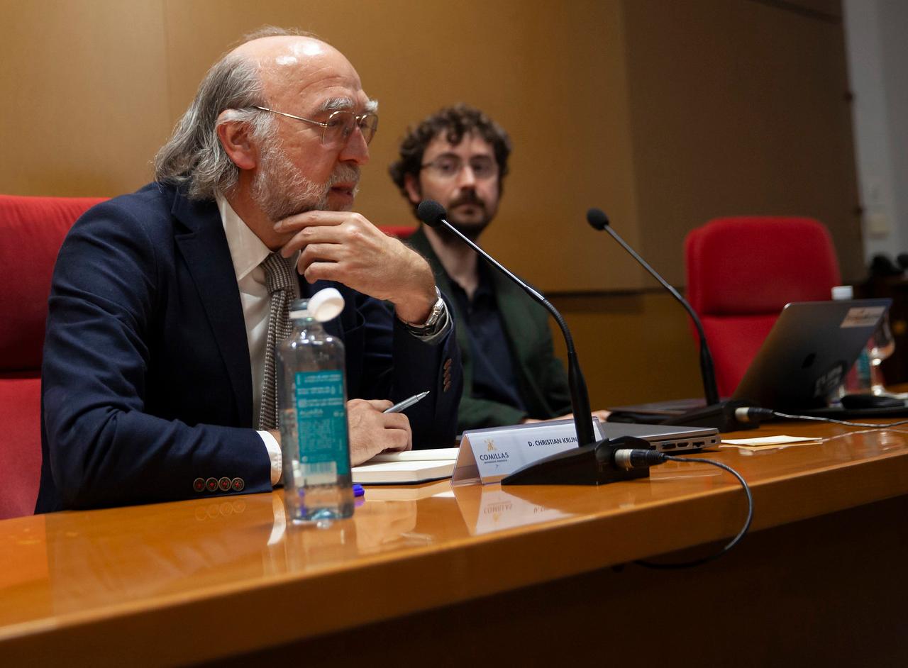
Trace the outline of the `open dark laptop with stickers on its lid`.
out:
<instances>
[{"instance_id":1,"label":"open dark laptop with stickers on its lid","mask_svg":"<svg viewBox=\"0 0 908 668\"><path fill-rule=\"evenodd\" d=\"M786 304L732 398L780 412L858 413L836 405L835 393L891 304L889 299ZM656 421L703 406L702 398L660 401L613 408L613 417Z\"/></svg>"}]
</instances>

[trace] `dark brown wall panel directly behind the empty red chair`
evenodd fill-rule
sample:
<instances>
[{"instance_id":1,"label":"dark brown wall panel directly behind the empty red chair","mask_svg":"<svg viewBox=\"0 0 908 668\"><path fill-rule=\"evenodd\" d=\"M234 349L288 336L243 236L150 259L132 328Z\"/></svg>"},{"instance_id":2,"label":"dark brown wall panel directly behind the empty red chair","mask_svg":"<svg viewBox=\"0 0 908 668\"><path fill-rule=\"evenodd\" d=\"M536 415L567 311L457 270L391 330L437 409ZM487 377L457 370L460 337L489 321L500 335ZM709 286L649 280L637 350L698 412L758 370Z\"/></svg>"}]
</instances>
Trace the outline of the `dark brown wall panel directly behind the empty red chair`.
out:
<instances>
[{"instance_id":1,"label":"dark brown wall panel directly behind the empty red chair","mask_svg":"<svg viewBox=\"0 0 908 668\"><path fill-rule=\"evenodd\" d=\"M843 26L784 5L624 5L639 225L674 283L686 231L751 213L823 221L862 275Z\"/></svg>"}]
</instances>

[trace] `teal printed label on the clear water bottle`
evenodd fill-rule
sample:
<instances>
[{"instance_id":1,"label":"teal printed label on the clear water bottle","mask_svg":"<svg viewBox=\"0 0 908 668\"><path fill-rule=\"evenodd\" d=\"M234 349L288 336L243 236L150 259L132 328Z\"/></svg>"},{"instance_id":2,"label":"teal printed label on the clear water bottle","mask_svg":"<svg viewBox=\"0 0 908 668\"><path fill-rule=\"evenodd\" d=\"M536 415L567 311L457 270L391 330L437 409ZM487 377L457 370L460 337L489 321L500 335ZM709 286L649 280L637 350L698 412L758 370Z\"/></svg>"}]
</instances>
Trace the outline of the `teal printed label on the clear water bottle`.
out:
<instances>
[{"instance_id":1,"label":"teal printed label on the clear water bottle","mask_svg":"<svg viewBox=\"0 0 908 668\"><path fill-rule=\"evenodd\" d=\"M342 371L299 371L293 378L303 485L350 474Z\"/></svg>"}]
</instances>

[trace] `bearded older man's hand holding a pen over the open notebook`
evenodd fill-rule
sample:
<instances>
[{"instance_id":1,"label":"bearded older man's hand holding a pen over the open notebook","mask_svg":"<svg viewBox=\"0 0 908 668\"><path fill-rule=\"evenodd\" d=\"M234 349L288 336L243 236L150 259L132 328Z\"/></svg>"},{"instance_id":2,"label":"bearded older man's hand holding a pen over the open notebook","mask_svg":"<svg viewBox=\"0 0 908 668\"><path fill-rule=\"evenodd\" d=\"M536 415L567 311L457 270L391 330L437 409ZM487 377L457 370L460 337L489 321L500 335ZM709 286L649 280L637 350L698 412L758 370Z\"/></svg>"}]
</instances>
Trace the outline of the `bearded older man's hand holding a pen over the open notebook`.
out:
<instances>
[{"instance_id":1,"label":"bearded older man's hand holding a pen over the open notebook","mask_svg":"<svg viewBox=\"0 0 908 668\"><path fill-rule=\"evenodd\" d=\"M410 418L402 413L381 412L392 405L385 399L350 399L347 402L350 463L354 467L380 452L409 450L413 447Z\"/></svg>"}]
</instances>

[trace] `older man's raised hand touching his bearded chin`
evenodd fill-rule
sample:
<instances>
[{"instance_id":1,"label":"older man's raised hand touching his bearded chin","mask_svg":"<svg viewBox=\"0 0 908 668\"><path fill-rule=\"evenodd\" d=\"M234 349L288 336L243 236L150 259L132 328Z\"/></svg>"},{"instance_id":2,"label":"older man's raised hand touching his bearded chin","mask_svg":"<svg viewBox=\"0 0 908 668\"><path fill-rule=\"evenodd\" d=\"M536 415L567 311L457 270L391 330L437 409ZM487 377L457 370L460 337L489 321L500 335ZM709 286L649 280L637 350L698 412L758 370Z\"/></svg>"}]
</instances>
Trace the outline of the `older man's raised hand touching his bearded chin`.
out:
<instances>
[{"instance_id":1,"label":"older man's raised hand touching his bearded chin","mask_svg":"<svg viewBox=\"0 0 908 668\"><path fill-rule=\"evenodd\" d=\"M279 221L274 230L293 233L281 254L302 250L297 267L310 283L336 280L390 301L405 322L429 319L437 299L429 263L359 213L307 211Z\"/></svg>"}]
</instances>

